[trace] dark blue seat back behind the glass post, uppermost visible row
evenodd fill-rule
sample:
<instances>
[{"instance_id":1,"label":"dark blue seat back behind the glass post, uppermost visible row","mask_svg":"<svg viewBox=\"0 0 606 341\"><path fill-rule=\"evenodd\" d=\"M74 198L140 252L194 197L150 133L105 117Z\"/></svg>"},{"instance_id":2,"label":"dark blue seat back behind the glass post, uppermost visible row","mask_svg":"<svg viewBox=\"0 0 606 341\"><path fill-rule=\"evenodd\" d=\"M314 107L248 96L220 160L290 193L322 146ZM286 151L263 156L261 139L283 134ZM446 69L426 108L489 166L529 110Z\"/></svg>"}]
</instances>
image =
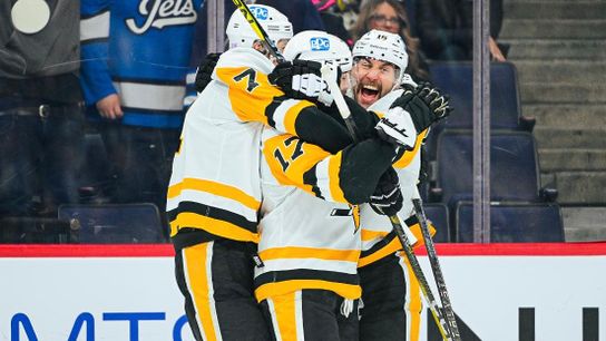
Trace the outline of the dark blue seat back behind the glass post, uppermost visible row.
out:
<instances>
[{"instance_id":1,"label":"dark blue seat back behind the glass post, uppermost visible row","mask_svg":"<svg viewBox=\"0 0 606 341\"><path fill-rule=\"evenodd\" d=\"M454 113L446 128L471 129L473 126L473 65L470 61L433 62L431 81L450 96ZM490 126L493 129L530 131L534 118L521 116L516 66L511 62L490 64Z\"/></svg>"}]
</instances>

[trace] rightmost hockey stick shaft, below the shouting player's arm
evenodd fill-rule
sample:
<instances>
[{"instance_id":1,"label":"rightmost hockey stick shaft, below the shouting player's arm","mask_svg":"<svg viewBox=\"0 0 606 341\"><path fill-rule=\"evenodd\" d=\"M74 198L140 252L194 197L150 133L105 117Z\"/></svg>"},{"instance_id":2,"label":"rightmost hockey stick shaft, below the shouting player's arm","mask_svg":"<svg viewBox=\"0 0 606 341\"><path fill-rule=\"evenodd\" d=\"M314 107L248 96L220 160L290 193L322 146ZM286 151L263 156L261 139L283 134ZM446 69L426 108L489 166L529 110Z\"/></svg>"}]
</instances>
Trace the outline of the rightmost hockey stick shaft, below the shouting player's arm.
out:
<instances>
[{"instance_id":1,"label":"rightmost hockey stick shaft, below the shouting player's arm","mask_svg":"<svg viewBox=\"0 0 606 341\"><path fill-rule=\"evenodd\" d=\"M419 193L417 192L417 195ZM419 195L418 195L419 196ZM412 205L414 206L414 213L417 220L421 225L421 232L423 233L423 240L426 244L427 255L429 257L429 263L431 264L431 271L433 272L433 279L436 280L436 285L438 286L438 294L440 295L440 301L442 301L442 310L448 322L448 327L451 331L452 340L460 341L461 334L459 333L459 327L457 325L457 318L454 316L454 311L452 310L452 304L450 303L450 298L448 295L448 290L446 288L444 276L442 274L442 269L436 254L436 245L429 233L429 225L427 223L426 212L423 210L423 204L420 197L412 199Z\"/></svg>"}]
</instances>

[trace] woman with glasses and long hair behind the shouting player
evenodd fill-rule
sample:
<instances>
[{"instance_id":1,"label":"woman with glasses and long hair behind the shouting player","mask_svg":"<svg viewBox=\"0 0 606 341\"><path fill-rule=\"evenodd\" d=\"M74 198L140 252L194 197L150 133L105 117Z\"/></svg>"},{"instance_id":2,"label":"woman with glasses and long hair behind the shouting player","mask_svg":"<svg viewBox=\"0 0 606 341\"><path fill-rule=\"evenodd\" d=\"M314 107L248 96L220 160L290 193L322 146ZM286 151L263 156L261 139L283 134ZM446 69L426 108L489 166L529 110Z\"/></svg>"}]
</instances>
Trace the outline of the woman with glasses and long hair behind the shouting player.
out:
<instances>
[{"instance_id":1,"label":"woman with glasses and long hair behind the shouting player","mask_svg":"<svg viewBox=\"0 0 606 341\"><path fill-rule=\"evenodd\" d=\"M417 81L429 80L428 65L419 50L419 40L410 33L407 11L398 0L363 1L360 8L358 23L353 28L354 39L358 40L365 32L377 29L398 33L404 40L409 64L405 70Z\"/></svg>"}]
</instances>

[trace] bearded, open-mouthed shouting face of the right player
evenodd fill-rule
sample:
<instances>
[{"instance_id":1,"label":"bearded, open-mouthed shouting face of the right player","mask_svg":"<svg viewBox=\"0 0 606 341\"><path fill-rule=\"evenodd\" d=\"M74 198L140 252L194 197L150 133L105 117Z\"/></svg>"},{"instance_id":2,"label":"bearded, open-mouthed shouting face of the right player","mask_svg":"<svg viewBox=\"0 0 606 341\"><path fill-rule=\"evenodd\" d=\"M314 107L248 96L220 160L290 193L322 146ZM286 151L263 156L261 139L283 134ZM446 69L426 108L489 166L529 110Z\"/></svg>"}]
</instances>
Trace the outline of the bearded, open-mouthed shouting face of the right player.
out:
<instances>
[{"instance_id":1,"label":"bearded, open-mouthed shouting face of the right player","mask_svg":"<svg viewBox=\"0 0 606 341\"><path fill-rule=\"evenodd\" d=\"M391 62L362 58L353 67L355 101L364 108L385 96L395 85L395 67Z\"/></svg>"}]
</instances>

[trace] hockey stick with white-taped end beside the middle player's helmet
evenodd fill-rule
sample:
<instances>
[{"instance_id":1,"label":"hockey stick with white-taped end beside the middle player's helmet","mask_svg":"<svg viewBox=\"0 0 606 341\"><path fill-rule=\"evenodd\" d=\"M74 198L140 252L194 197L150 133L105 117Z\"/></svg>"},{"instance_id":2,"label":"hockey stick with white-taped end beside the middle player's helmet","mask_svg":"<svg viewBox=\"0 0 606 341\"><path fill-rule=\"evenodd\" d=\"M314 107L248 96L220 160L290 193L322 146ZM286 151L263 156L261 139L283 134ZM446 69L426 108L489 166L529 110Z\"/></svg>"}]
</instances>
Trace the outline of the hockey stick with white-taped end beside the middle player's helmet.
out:
<instances>
[{"instance_id":1,"label":"hockey stick with white-taped end beside the middle player's helmet","mask_svg":"<svg viewBox=\"0 0 606 341\"><path fill-rule=\"evenodd\" d=\"M333 99L336 104L336 108L339 109L339 114L341 114L341 117L343 118L343 120L345 120L348 130L352 135L352 138L354 140L358 140L358 135L355 131L355 123L353 120L353 117L351 116L351 111L345 103L345 99L343 98L343 94L341 94L341 89L339 88L339 85L331 77L330 69L326 66L322 68L322 78L329 85L331 94L333 95ZM419 281L419 286L421 288L421 292L423 293L427 300L429 310L431 311L431 314L433 315L433 320L436 321L436 325L438 327L440 334L442 334L442 339L447 341L451 341L451 340L459 341L460 339L454 339L452 337L449 325L447 324L444 316L440 308L438 306L438 303L436 302L436 298L433 296L433 293L431 292L431 288L429 286L429 283L427 282L427 277L423 273L423 270L421 269L421 264L419 264L419 260L417 259L417 255L414 254L414 251L412 250L412 245L414 244L417 238L414 237L412 232L410 232L410 228L408 228L408 226L402 225L401 220L398 215L390 215L389 221L391 222L391 225L393 226L393 231L395 231L395 234L398 235L398 238L400 240L400 243L402 244L404 254L410 263L412 272L414 273L414 276L417 276L417 281Z\"/></svg>"}]
</instances>

